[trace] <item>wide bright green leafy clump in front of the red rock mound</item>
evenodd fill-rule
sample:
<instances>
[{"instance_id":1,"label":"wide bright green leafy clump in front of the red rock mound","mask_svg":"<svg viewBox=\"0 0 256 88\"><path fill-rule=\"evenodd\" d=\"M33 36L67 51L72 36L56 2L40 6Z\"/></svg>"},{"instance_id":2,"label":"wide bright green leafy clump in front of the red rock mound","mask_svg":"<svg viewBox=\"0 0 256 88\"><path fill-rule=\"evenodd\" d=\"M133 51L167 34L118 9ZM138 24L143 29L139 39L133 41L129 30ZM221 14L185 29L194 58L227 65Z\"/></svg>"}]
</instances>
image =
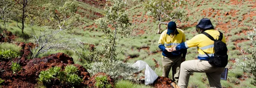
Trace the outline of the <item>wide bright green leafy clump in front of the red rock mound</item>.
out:
<instances>
[{"instance_id":1,"label":"wide bright green leafy clump in front of the red rock mound","mask_svg":"<svg viewBox=\"0 0 256 88\"><path fill-rule=\"evenodd\" d=\"M59 79L65 85L80 85L83 81L77 74L77 67L67 65L64 71L60 67L52 67L46 71L41 71L37 80L43 82L45 86L51 84L51 80Z\"/></svg>"}]
</instances>

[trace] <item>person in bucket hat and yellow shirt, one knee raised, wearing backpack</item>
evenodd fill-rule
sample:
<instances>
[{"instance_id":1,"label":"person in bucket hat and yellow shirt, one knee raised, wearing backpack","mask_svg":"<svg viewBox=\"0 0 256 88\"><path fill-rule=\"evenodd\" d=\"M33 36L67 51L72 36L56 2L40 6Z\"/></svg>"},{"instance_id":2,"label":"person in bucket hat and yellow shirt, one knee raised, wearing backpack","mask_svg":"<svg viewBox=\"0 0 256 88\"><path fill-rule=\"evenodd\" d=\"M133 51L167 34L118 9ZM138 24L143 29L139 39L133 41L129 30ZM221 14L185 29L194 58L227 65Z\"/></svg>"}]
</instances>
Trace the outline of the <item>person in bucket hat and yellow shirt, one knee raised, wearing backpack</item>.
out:
<instances>
[{"instance_id":1,"label":"person in bucket hat and yellow shirt, one knee raised, wearing backpack","mask_svg":"<svg viewBox=\"0 0 256 88\"><path fill-rule=\"evenodd\" d=\"M210 59L214 58L214 41L204 35L205 33L207 33L212 38L219 39L221 38L220 35L222 35L222 33L214 30L210 19L207 18L200 20L200 22L196 26L196 31L199 35L196 35L191 40L186 41L185 43L171 48L172 51L175 51L197 46L197 50L199 53L199 60L188 60L181 63L179 83L178 85L175 85L173 83L171 85L173 86L173 88L187 88L190 72L204 72L206 73L209 80L210 88L222 88L220 78L221 73L223 72L225 67L217 67L214 64L210 64L208 62ZM223 43L226 43L224 35L221 41Z\"/></svg>"}]
</instances>

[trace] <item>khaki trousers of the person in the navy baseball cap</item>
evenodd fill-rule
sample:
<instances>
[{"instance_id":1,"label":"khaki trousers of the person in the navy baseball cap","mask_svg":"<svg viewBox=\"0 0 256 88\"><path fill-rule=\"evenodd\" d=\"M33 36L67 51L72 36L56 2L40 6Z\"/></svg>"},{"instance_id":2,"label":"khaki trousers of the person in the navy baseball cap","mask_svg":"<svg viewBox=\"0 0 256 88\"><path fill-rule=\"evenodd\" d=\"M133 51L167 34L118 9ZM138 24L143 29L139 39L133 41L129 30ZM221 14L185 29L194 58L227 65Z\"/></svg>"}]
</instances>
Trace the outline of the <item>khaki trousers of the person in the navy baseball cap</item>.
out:
<instances>
[{"instance_id":1,"label":"khaki trousers of the person in the navy baseball cap","mask_svg":"<svg viewBox=\"0 0 256 88\"><path fill-rule=\"evenodd\" d=\"M170 73L170 70L172 68L172 79L176 83L178 83L179 74L180 74L180 64L182 63L182 56L173 56L173 57L163 57L162 58L163 63L163 77L167 77Z\"/></svg>"}]
</instances>

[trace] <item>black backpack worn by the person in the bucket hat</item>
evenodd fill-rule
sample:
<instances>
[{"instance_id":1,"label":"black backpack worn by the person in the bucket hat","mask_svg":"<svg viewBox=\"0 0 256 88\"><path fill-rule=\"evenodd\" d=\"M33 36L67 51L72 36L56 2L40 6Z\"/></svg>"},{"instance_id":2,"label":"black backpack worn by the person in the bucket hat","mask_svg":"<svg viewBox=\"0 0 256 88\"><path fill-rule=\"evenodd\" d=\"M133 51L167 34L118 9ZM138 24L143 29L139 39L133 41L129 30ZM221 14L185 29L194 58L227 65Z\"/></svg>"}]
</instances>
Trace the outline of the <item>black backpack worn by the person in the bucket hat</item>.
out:
<instances>
[{"instance_id":1,"label":"black backpack worn by the person in the bucket hat","mask_svg":"<svg viewBox=\"0 0 256 88\"><path fill-rule=\"evenodd\" d=\"M211 35L209 35L206 32L203 32L202 34L206 35L208 38L214 41L214 57L213 58L210 58L210 56L203 51L210 58L208 62L210 64L214 64L217 67L226 67L228 64L228 55L227 55L228 48L227 48L227 45L221 41L223 38L223 34L220 32L219 40L214 39Z\"/></svg>"}]
</instances>

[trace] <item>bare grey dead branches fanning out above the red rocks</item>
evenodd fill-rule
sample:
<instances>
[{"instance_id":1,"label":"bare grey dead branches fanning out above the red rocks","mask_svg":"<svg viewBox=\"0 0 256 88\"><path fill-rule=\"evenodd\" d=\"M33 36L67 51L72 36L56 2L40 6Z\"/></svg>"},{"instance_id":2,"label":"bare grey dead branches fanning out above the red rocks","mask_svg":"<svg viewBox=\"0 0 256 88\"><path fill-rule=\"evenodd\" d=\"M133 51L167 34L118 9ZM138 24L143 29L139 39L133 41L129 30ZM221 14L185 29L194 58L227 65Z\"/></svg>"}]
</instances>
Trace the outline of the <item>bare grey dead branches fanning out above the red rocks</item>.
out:
<instances>
[{"instance_id":1,"label":"bare grey dead branches fanning out above the red rocks","mask_svg":"<svg viewBox=\"0 0 256 88\"><path fill-rule=\"evenodd\" d=\"M36 58L40 54L46 52L52 52L57 50L72 50L78 53L80 57L80 50L85 50L82 42L77 38L66 38L65 34L60 33L61 30L57 31L44 31L39 36L33 35L33 41L35 42L35 48L31 49L31 58Z\"/></svg>"}]
</instances>

